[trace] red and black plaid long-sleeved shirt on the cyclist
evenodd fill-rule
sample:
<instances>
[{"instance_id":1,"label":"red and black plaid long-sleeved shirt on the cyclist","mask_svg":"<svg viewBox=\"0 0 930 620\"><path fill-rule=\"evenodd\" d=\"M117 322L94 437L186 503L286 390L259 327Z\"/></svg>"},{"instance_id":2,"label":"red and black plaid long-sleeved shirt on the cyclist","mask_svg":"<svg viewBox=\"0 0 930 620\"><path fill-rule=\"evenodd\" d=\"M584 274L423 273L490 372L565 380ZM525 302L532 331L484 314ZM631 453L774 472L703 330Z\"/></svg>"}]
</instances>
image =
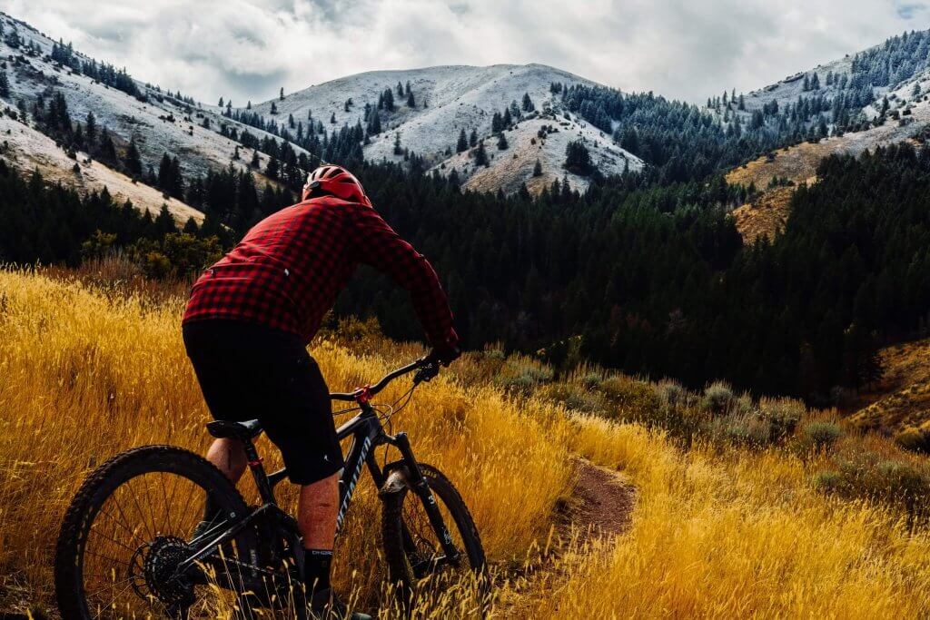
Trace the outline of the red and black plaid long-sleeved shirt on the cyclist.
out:
<instances>
[{"instance_id":1,"label":"red and black plaid long-sleeved shirt on the cyclist","mask_svg":"<svg viewBox=\"0 0 930 620\"><path fill-rule=\"evenodd\" d=\"M388 274L413 298L433 347L458 344L432 266L374 209L314 198L261 220L193 284L183 323L235 319L310 342L359 263Z\"/></svg>"}]
</instances>

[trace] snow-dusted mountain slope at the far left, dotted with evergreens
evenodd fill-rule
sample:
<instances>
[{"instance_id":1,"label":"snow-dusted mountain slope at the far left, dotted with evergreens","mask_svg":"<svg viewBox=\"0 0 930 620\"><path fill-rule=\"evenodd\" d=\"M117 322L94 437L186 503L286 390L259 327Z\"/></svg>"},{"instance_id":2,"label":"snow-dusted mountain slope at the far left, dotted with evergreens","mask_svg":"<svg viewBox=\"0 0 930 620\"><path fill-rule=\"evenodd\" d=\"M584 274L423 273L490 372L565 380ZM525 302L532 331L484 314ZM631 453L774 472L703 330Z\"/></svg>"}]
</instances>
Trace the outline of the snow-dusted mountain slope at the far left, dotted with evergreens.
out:
<instances>
[{"instance_id":1,"label":"snow-dusted mountain slope at the far left, dotted with evergreens","mask_svg":"<svg viewBox=\"0 0 930 620\"><path fill-rule=\"evenodd\" d=\"M162 204L167 204L179 221L192 215L195 219L202 218L196 210L177 200L166 199L160 191L151 188L150 191L127 191L131 189L129 186L142 184L100 162L88 162L85 153L77 153L74 159L65 157L64 145L56 145L39 134L34 123L28 120L22 124L21 113L18 114L20 122L10 120L20 105L27 111L28 119L37 100L47 103L55 93L61 93L74 121L84 123L87 113L92 111L99 129L105 127L117 147L125 148L134 140L144 168L152 166L157 170L163 155L168 153L178 157L183 174L189 178L201 176L207 169L216 170L232 164L250 170L261 183L269 182L259 169L248 166L252 149L239 145L240 158L233 160L237 142L221 135L220 127L226 125L239 132L247 129L259 139L270 137L266 132L223 118L213 110L169 96L139 81L133 81L139 96L132 96L52 59L56 42L29 24L0 13L0 27L4 32L0 36L0 69L6 72L9 82L9 94L0 98L0 112L7 111L5 133L7 129L18 131L16 138L7 139L6 156L13 165L26 170L38 167L46 177L70 179L82 189L99 190L107 186L113 195L131 199L140 208L157 211ZM73 51L73 56L80 62L90 61L77 51ZM296 147L295 150L300 151ZM259 152L262 169L267 161L268 156ZM83 168L80 176L72 172L75 162ZM64 169L60 169L62 166Z\"/></svg>"}]
</instances>

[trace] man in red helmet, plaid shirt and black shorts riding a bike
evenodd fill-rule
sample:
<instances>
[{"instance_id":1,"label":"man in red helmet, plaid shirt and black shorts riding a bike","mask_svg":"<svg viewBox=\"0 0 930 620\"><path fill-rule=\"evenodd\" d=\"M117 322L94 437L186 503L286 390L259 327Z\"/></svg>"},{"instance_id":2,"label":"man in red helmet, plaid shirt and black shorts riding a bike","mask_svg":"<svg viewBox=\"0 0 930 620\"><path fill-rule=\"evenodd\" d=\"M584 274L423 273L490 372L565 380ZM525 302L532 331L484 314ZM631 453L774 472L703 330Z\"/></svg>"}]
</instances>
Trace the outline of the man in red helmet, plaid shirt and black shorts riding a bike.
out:
<instances>
[{"instance_id":1,"label":"man in red helmet, plaid shirt and black shorts riding a bike","mask_svg":"<svg viewBox=\"0 0 930 620\"><path fill-rule=\"evenodd\" d=\"M321 618L346 614L329 584L343 459L329 391L306 346L361 263L410 293L436 361L458 357L452 312L436 272L338 165L314 170L299 204L261 220L201 275L182 323L210 414L233 421L259 417L290 481L301 486L304 586L312 613ZM214 441L206 458L233 483L246 470L237 440ZM204 523L218 510L208 500ZM357 620L368 617L352 613Z\"/></svg>"}]
</instances>

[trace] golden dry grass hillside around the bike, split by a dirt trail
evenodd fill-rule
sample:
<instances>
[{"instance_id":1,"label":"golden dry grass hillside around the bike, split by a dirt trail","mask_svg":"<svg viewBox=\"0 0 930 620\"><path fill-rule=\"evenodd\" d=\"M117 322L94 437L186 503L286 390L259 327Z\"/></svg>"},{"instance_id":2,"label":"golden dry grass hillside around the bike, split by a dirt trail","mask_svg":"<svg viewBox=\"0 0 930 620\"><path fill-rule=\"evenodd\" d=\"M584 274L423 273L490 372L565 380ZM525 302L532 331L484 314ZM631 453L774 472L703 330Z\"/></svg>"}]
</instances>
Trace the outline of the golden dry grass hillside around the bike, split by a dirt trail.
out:
<instances>
[{"instance_id":1,"label":"golden dry grass hillside around the bike, split by a dirt trail","mask_svg":"<svg viewBox=\"0 0 930 620\"><path fill-rule=\"evenodd\" d=\"M0 271L0 611L54 614L51 545L88 468L132 445L207 444L180 342L181 300L87 282ZM312 352L339 389L421 350L344 323ZM466 355L451 371L419 390L394 429L409 432L472 508L498 574L495 613L930 613L930 475L890 442L722 384L692 394L593 368L554 379L545 365L498 350ZM403 390L398 382L384 400ZM624 534L551 538L578 455L623 469L636 487ZM374 489L365 485L358 500L340 542L339 583L393 617L379 605L374 536L363 535L377 522ZM416 615L469 609L463 589Z\"/></svg>"}]
</instances>

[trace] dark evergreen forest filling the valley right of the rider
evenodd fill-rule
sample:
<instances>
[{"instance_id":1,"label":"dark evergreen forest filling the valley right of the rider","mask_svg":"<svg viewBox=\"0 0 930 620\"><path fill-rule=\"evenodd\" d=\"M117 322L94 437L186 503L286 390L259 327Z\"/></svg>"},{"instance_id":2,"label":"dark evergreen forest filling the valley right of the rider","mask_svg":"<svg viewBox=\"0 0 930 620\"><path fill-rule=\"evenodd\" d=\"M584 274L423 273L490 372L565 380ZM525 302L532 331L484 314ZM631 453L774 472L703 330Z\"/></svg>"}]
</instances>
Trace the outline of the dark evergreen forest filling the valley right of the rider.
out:
<instances>
[{"instance_id":1,"label":"dark evergreen forest filling the valley right of the rider","mask_svg":"<svg viewBox=\"0 0 930 620\"><path fill-rule=\"evenodd\" d=\"M375 204L442 274L466 343L546 350L582 336L587 359L699 386L726 377L758 393L826 403L858 388L888 342L930 322L930 151L831 157L801 188L774 241L743 246L725 211L744 195L721 178L598 180L459 193L390 166L360 171ZM376 315L417 337L405 295L365 272L339 313Z\"/></svg>"}]
</instances>

